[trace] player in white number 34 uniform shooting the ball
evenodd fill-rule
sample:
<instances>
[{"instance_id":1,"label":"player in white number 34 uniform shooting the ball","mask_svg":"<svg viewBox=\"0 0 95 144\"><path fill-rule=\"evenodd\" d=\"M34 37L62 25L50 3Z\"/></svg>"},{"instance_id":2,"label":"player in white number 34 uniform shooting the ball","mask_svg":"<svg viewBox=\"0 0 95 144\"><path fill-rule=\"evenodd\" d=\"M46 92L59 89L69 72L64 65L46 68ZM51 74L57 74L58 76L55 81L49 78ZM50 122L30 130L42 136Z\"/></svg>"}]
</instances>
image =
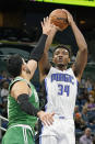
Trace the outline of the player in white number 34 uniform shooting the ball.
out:
<instances>
[{"instance_id":1,"label":"player in white number 34 uniform shooting the ball","mask_svg":"<svg viewBox=\"0 0 95 144\"><path fill-rule=\"evenodd\" d=\"M87 44L83 34L73 21L69 11L68 23L75 36L79 51L75 63L67 69L70 62L70 51L64 45L58 45L54 51L52 62L48 62L48 49L58 27L54 27L46 41L46 47L39 62L40 81L45 80L47 103L46 111L55 112L52 125L44 125L39 143L41 144L75 144L73 112L78 93L78 84L87 63Z\"/></svg>"}]
</instances>

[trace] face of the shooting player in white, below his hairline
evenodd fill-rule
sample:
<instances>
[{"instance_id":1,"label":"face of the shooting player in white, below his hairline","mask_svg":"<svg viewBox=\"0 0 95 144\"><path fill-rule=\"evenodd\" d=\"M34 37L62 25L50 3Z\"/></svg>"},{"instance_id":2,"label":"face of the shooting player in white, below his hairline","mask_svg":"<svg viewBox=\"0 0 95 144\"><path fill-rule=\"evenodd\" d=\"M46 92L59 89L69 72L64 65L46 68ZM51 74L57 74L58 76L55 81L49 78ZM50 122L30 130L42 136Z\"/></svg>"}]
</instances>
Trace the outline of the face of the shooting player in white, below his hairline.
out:
<instances>
[{"instance_id":1,"label":"face of the shooting player in white, below his hairline","mask_svg":"<svg viewBox=\"0 0 95 144\"><path fill-rule=\"evenodd\" d=\"M69 52L66 48L57 48L54 53L52 62L56 65L68 65L68 63L70 62Z\"/></svg>"}]
</instances>

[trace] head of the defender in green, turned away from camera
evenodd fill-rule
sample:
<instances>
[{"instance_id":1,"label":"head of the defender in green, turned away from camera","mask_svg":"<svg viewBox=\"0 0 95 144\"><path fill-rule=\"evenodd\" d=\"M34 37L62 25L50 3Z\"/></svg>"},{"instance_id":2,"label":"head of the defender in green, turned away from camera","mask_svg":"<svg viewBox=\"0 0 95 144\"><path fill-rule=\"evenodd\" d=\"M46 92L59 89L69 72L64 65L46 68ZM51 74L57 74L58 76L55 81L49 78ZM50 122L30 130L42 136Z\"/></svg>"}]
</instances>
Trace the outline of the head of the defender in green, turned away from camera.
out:
<instances>
[{"instance_id":1,"label":"head of the defender in green, turned away from camera","mask_svg":"<svg viewBox=\"0 0 95 144\"><path fill-rule=\"evenodd\" d=\"M9 57L8 71L13 76L20 76L22 71L31 73L25 60L17 54Z\"/></svg>"}]
</instances>

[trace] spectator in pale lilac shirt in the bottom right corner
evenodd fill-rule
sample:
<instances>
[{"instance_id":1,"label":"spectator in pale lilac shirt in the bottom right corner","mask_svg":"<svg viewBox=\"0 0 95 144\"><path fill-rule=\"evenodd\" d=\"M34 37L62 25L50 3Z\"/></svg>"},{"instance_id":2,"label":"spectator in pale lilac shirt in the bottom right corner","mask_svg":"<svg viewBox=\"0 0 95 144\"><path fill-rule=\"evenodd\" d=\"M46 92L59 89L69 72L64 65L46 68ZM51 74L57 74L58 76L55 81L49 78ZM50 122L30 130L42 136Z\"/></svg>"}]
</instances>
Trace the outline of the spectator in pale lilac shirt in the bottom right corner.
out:
<instances>
[{"instance_id":1,"label":"spectator in pale lilac shirt in the bottom right corner","mask_svg":"<svg viewBox=\"0 0 95 144\"><path fill-rule=\"evenodd\" d=\"M91 129L86 128L84 135L80 137L80 144L93 144L93 137L91 135Z\"/></svg>"}]
</instances>

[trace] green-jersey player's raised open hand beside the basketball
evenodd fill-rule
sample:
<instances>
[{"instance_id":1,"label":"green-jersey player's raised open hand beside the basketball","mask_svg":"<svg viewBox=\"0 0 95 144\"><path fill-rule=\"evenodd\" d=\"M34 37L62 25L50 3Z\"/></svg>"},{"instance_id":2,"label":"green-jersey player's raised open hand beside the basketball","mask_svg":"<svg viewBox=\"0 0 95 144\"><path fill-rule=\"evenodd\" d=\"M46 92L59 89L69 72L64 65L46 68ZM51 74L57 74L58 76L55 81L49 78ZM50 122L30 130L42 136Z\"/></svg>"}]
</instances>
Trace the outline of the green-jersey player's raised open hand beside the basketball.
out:
<instances>
[{"instance_id":1,"label":"green-jersey player's raised open hand beside the basketball","mask_svg":"<svg viewBox=\"0 0 95 144\"><path fill-rule=\"evenodd\" d=\"M54 26L55 25L50 23L50 20L48 16L44 18L44 21L41 22L43 34L49 35Z\"/></svg>"}]
</instances>

